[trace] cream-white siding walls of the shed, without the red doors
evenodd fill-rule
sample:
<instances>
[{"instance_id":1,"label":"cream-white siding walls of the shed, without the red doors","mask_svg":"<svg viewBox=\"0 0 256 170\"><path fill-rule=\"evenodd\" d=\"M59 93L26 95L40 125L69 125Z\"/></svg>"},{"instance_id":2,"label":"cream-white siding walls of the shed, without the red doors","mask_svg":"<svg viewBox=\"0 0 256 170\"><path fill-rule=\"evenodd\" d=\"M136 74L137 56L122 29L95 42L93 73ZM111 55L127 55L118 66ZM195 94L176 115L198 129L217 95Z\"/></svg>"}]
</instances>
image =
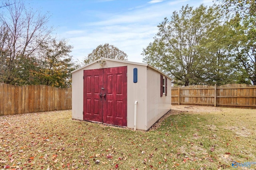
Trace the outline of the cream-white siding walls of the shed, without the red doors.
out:
<instances>
[{"instance_id":1,"label":"cream-white siding walls of the shed, without the red doors","mask_svg":"<svg viewBox=\"0 0 256 170\"><path fill-rule=\"evenodd\" d=\"M97 60L100 61L101 59ZM171 109L171 82L168 78L167 96L160 97L160 74L144 63L104 59L101 68L127 66L127 127L134 128L134 102L137 100L136 128L148 130ZM94 61L72 72L72 118L83 120L83 74L84 70L98 69ZM133 82L133 69L138 68L138 82Z\"/></svg>"}]
</instances>

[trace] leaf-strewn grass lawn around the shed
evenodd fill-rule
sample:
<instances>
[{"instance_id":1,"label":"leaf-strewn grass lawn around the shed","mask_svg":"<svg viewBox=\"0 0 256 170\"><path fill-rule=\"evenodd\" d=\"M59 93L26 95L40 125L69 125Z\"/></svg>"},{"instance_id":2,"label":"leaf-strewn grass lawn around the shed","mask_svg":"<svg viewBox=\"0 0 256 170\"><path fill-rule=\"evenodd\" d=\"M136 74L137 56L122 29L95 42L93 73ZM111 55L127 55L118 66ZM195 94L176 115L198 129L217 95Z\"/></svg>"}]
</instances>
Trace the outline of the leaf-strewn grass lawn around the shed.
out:
<instances>
[{"instance_id":1,"label":"leaf-strewn grass lawn around the shed","mask_svg":"<svg viewBox=\"0 0 256 170\"><path fill-rule=\"evenodd\" d=\"M205 108L172 110L147 132L72 120L71 110L0 116L0 170L217 170L256 162L256 110Z\"/></svg>"}]
</instances>

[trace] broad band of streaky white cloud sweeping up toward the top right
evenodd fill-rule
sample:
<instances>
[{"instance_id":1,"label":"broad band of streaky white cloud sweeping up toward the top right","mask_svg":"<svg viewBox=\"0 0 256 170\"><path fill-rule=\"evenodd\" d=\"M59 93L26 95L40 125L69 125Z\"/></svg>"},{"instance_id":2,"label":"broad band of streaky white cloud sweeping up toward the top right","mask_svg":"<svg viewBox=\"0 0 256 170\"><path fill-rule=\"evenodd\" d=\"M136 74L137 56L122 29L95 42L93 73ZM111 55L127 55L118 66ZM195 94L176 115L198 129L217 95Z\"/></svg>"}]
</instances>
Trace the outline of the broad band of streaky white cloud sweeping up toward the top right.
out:
<instances>
[{"instance_id":1,"label":"broad band of streaky white cloud sweeping up toward the top right","mask_svg":"<svg viewBox=\"0 0 256 170\"><path fill-rule=\"evenodd\" d=\"M154 4L152 4L154 1ZM80 30L65 32L64 37L74 46L71 53L74 59L83 61L98 45L109 43L128 55L129 61L142 62L143 48L146 48L158 32L157 25L165 17L169 18L174 10L180 10L187 0L165 1L152 0L141 8L134 8L120 14L108 13L101 20L83 23ZM192 6L202 1L192 1ZM93 14L91 14L93 15ZM99 15L99 14L96 14Z\"/></svg>"}]
</instances>

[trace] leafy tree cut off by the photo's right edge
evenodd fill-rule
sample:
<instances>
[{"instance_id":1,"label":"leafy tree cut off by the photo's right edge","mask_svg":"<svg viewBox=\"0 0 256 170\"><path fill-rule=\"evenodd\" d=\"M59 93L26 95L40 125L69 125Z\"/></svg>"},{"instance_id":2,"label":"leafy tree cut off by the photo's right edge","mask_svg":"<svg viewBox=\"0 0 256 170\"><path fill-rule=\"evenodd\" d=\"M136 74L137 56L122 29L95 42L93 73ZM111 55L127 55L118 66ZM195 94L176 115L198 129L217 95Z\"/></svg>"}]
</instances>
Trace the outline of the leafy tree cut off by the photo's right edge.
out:
<instances>
[{"instance_id":1,"label":"leafy tree cut off by the photo's right edge","mask_svg":"<svg viewBox=\"0 0 256 170\"><path fill-rule=\"evenodd\" d=\"M230 54L236 57L243 77L256 85L256 1L220 0L221 7L229 14L233 40Z\"/></svg>"}]
</instances>

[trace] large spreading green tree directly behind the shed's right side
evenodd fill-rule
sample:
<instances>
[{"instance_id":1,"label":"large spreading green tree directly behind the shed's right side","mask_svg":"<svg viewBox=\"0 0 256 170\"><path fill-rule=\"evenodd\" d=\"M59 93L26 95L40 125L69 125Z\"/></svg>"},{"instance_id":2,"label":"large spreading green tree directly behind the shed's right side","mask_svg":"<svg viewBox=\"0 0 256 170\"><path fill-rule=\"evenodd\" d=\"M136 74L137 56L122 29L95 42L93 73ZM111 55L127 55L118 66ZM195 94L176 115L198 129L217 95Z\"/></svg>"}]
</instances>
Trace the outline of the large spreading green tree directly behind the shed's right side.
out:
<instances>
[{"instance_id":1,"label":"large spreading green tree directly behind the shed's right side","mask_svg":"<svg viewBox=\"0 0 256 170\"><path fill-rule=\"evenodd\" d=\"M220 25L218 10L204 5L194 9L183 6L158 25L154 42L143 49L143 61L162 70L174 78L178 85L204 83L204 68L209 65L207 49L202 45Z\"/></svg>"}]
</instances>

